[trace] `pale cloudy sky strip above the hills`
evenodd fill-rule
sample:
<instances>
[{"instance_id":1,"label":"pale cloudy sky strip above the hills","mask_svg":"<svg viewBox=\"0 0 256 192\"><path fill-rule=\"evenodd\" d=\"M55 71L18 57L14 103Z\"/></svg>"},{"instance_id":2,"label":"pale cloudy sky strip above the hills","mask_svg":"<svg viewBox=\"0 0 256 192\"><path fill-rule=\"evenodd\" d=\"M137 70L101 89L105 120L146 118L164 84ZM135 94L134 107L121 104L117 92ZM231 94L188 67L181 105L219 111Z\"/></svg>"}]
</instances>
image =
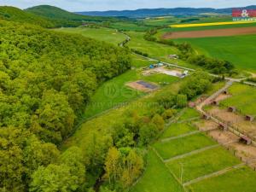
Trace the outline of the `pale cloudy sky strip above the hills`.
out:
<instances>
[{"instance_id":1,"label":"pale cloudy sky strip above the hills","mask_svg":"<svg viewBox=\"0 0 256 192\"><path fill-rule=\"evenodd\" d=\"M0 0L0 5L10 5L20 9L41 4L75 12L177 7L230 8L255 5L256 0Z\"/></svg>"}]
</instances>

